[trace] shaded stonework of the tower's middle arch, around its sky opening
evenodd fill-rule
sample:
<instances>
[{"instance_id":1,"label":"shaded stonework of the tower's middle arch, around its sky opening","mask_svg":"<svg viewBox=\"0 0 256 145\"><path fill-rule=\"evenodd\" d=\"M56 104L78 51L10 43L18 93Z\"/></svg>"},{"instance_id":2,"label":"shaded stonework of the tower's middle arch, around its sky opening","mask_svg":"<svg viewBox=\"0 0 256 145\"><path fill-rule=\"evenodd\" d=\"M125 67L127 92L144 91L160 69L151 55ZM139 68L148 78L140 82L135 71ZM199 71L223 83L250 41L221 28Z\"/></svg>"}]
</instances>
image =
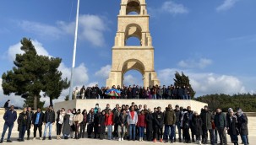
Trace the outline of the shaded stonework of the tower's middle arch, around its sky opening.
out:
<instances>
[{"instance_id":1,"label":"shaded stonework of the tower's middle arch, around its sky opening","mask_svg":"<svg viewBox=\"0 0 256 145\"><path fill-rule=\"evenodd\" d=\"M140 41L140 46L142 45L142 29L139 26L139 24L128 24L126 26L125 29L125 46L126 46L126 41L130 38L130 37L136 37L139 39Z\"/></svg>"}]
</instances>

